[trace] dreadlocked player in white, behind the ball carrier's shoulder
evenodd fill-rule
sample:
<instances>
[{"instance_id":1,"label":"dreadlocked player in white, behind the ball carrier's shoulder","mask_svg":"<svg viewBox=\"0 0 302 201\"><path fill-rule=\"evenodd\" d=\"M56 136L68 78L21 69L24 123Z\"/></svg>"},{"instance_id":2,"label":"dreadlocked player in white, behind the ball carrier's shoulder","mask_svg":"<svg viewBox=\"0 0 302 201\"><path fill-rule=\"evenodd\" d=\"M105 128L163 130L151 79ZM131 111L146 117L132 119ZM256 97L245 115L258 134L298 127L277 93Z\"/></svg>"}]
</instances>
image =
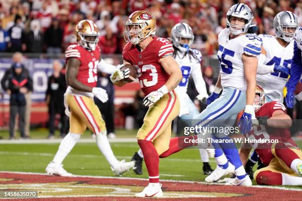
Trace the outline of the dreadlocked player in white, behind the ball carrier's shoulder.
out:
<instances>
[{"instance_id":1,"label":"dreadlocked player in white, behind the ball carrier's shoulder","mask_svg":"<svg viewBox=\"0 0 302 201\"><path fill-rule=\"evenodd\" d=\"M199 95L196 97L198 100L208 98L205 82L202 78L200 62L202 55L200 51L191 49L194 40L194 34L191 27L186 23L178 23L172 28L172 44L174 48L174 59L179 64L183 79L176 87L175 91L178 94L181 102L180 118L191 120L194 116L199 114L196 106L187 94L189 76L191 75ZM211 174L213 169L209 165L209 156L205 149L199 149L201 161L203 162L204 174ZM134 171L137 174L142 173L142 158L143 154L139 150L133 156L132 160L136 162Z\"/></svg>"}]
</instances>

